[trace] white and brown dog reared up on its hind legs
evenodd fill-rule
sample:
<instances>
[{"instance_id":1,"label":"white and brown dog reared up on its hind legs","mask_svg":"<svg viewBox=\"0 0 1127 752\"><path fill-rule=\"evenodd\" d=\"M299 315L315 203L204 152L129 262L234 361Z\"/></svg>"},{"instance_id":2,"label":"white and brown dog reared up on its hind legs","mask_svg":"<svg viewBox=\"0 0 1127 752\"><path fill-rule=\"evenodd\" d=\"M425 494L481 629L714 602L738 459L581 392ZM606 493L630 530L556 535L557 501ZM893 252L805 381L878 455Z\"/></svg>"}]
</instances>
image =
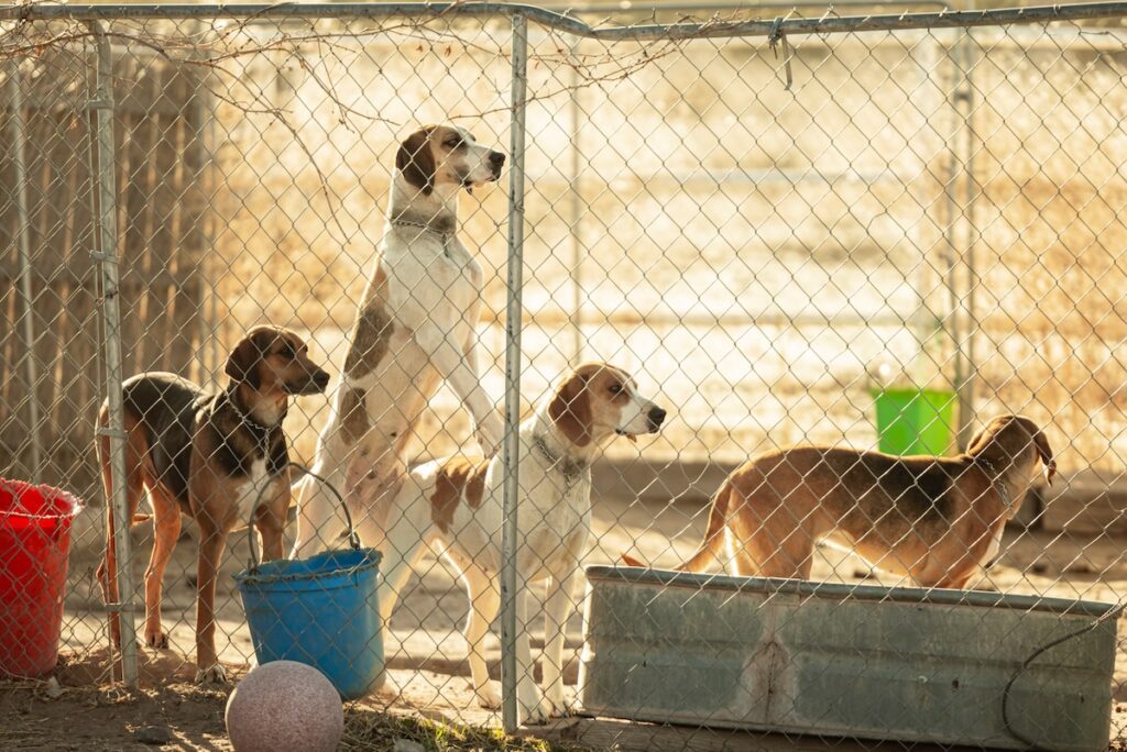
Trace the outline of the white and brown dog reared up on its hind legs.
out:
<instances>
[{"instance_id":1,"label":"white and brown dog reared up on its hind legs","mask_svg":"<svg viewBox=\"0 0 1127 752\"><path fill-rule=\"evenodd\" d=\"M399 491L403 453L443 379L469 409L482 451L500 447L504 428L478 374L483 271L456 230L459 194L497 181L504 163L449 125L420 128L399 146L383 240L312 468L358 519ZM345 527L335 498L308 476L295 496L294 556L334 546Z\"/></svg>"}]
</instances>

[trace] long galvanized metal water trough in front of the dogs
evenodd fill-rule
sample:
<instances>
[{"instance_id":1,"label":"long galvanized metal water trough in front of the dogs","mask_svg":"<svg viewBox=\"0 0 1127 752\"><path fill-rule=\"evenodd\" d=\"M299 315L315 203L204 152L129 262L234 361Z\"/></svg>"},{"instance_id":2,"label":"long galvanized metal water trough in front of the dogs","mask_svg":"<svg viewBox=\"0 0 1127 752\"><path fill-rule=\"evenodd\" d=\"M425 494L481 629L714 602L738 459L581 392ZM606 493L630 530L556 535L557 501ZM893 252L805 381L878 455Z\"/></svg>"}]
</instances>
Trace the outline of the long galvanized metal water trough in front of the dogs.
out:
<instances>
[{"instance_id":1,"label":"long galvanized metal water trough in front of the dogs","mask_svg":"<svg viewBox=\"0 0 1127 752\"><path fill-rule=\"evenodd\" d=\"M587 569L587 715L857 738L1106 750L1121 606Z\"/></svg>"}]
</instances>

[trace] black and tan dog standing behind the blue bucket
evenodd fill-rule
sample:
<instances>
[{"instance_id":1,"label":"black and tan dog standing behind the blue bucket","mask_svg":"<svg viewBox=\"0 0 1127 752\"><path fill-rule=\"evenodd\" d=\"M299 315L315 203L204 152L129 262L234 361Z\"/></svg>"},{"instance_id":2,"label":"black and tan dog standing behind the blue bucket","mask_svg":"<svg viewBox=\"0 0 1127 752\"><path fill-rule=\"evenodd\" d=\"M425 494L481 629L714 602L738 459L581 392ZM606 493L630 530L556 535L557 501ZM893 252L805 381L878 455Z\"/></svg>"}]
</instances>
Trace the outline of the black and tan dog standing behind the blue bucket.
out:
<instances>
[{"instance_id":1,"label":"black and tan dog standing behind the blue bucket","mask_svg":"<svg viewBox=\"0 0 1127 752\"><path fill-rule=\"evenodd\" d=\"M199 526L196 612L196 681L223 681L215 653L215 579L228 535L251 521L264 558L281 558L290 505L290 468L282 419L291 395L325 392L329 375L309 359L293 332L256 326L231 352L230 385L219 394L174 374L147 373L124 383L125 487L133 522L143 491L153 510L154 543L145 571L144 639L166 647L160 623L165 569L180 535L180 514ZM108 405L98 417L108 426ZM109 439L98 441L106 498L110 496ZM252 509L261 494L263 502ZM109 505L107 504L107 509ZM106 559L98 567L106 602L117 602L113 514L108 514ZM252 518L252 519L251 519ZM114 644L121 639L110 617Z\"/></svg>"}]
</instances>

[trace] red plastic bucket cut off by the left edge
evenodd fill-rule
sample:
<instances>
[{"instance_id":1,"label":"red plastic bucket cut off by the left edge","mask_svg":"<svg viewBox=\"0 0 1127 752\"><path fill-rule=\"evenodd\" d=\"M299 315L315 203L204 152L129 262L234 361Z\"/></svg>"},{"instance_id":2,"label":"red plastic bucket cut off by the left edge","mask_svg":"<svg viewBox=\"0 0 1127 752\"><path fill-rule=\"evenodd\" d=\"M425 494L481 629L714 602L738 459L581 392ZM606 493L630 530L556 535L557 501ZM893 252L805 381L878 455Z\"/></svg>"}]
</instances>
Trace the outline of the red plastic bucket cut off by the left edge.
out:
<instances>
[{"instance_id":1,"label":"red plastic bucket cut off by the left edge","mask_svg":"<svg viewBox=\"0 0 1127 752\"><path fill-rule=\"evenodd\" d=\"M82 501L0 478L0 675L42 677L59 662L71 520Z\"/></svg>"}]
</instances>

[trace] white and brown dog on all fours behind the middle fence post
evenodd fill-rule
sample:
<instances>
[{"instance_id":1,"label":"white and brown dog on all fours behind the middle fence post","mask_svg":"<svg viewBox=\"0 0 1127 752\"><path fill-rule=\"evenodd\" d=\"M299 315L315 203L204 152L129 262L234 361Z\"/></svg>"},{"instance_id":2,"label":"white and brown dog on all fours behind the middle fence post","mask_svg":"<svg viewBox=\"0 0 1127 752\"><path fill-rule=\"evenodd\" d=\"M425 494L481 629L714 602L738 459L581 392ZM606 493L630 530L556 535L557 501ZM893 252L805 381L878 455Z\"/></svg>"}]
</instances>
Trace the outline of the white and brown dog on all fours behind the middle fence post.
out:
<instances>
[{"instance_id":1,"label":"white and brown dog on all fours behind the middle fence post","mask_svg":"<svg viewBox=\"0 0 1127 752\"><path fill-rule=\"evenodd\" d=\"M665 410L638 394L635 381L605 364L569 373L521 424L517 495L516 664L522 723L564 713L565 625L591 535L591 463L615 436L656 433ZM452 457L411 471L380 514L358 523L366 545L383 552L380 611L388 624L411 566L429 546L461 573L470 600L465 642L478 701L500 705L489 681L485 637L500 606L502 485L499 457ZM536 689L529 646L529 589L547 585L543 691Z\"/></svg>"}]
</instances>

